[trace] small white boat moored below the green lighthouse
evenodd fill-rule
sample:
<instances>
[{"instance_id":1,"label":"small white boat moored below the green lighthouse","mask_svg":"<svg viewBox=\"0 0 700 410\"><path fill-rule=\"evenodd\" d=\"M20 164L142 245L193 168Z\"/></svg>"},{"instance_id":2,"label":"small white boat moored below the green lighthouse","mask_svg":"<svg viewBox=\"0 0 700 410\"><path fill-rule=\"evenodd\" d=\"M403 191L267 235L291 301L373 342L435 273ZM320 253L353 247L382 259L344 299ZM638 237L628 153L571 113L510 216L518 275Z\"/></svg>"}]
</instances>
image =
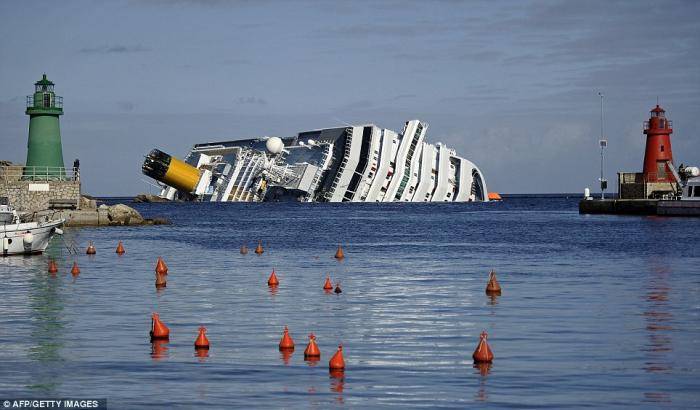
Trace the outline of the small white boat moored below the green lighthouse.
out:
<instances>
[{"instance_id":1,"label":"small white boat moored below the green lighthouse","mask_svg":"<svg viewBox=\"0 0 700 410\"><path fill-rule=\"evenodd\" d=\"M23 223L11 206L0 205L2 256L44 252L55 234L63 234L64 222L46 217L43 221Z\"/></svg>"}]
</instances>

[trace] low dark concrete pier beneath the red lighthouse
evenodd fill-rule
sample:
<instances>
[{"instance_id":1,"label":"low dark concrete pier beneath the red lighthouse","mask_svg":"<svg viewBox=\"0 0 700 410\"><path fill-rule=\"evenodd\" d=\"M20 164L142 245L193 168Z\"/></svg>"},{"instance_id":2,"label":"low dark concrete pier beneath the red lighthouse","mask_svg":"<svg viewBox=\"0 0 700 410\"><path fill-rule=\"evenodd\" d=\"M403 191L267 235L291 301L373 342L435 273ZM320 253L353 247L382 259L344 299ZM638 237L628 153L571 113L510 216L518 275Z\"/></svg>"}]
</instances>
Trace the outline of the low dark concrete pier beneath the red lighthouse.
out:
<instances>
[{"instance_id":1,"label":"low dark concrete pier beneath the red lighthouse","mask_svg":"<svg viewBox=\"0 0 700 410\"><path fill-rule=\"evenodd\" d=\"M592 199L578 204L581 214L700 216L700 201Z\"/></svg>"}]
</instances>

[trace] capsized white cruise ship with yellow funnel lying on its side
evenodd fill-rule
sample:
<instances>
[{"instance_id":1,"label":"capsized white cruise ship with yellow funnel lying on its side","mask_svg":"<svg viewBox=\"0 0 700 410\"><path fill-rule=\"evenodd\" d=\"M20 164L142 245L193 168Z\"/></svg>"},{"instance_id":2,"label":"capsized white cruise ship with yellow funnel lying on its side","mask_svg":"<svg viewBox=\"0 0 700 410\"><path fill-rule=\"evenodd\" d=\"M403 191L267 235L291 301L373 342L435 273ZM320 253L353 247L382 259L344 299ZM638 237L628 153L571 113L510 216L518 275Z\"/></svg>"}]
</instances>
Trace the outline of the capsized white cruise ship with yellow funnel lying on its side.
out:
<instances>
[{"instance_id":1,"label":"capsized white cruise ship with yellow funnel lying on its side","mask_svg":"<svg viewBox=\"0 0 700 410\"><path fill-rule=\"evenodd\" d=\"M195 145L184 161L158 149L145 175L170 200L212 202L488 201L476 165L425 141L428 124L403 131L374 124Z\"/></svg>"}]
</instances>

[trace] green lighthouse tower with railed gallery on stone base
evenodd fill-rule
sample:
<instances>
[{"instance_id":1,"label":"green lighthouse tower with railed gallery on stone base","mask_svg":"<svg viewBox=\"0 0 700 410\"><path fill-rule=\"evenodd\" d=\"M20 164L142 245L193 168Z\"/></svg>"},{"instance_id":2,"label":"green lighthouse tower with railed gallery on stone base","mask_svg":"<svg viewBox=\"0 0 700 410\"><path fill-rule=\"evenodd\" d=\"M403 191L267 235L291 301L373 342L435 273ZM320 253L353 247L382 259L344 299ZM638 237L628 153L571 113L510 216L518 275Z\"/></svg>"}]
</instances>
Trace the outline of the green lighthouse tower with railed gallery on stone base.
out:
<instances>
[{"instance_id":1,"label":"green lighthouse tower with railed gallery on stone base","mask_svg":"<svg viewBox=\"0 0 700 410\"><path fill-rule=\"evenodd\" d=\"M27 96L29 140L24 176L64 179L63 149L58 117L63 115L63 97L53 91L53 83L43 78L34 83L34 95Z\"/></svg>"}]
</instances>

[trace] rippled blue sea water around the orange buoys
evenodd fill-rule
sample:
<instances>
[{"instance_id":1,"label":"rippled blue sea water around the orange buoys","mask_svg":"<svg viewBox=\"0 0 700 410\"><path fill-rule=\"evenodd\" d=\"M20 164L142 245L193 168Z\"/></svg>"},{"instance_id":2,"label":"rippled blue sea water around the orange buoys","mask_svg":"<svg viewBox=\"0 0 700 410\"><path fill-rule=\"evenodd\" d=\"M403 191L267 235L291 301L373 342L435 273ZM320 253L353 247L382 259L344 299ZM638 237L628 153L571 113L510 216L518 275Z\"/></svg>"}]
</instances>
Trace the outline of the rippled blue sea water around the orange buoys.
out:
<instances>
[{"instance_id":1,"label":"rippled blue sea water around the orange buoys","mask_svg":"<svg viewBox=\"0 0 700 410\"><path fill-rule=\"evenodd\" d=\"M66 229L47 255L0 259L0 397L110 408L700 402L700 219L582 216L575 198L135 206L173 225ZM97 255L84 254L88 241ZM170 268L159 292L157 256ZM503 287L494 299L490 269ZM327 274L342 294L323 292ZM167 344L149 341L152 311L171 329ZM207 357L193 349L200 324ZM285 325L290 357L277 349ZM490 368L471 359L482 330ZM318 363L303 358L310 332ZM339 343L342 377L328 372Z\"/></svg>"}]
</instances>

